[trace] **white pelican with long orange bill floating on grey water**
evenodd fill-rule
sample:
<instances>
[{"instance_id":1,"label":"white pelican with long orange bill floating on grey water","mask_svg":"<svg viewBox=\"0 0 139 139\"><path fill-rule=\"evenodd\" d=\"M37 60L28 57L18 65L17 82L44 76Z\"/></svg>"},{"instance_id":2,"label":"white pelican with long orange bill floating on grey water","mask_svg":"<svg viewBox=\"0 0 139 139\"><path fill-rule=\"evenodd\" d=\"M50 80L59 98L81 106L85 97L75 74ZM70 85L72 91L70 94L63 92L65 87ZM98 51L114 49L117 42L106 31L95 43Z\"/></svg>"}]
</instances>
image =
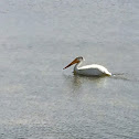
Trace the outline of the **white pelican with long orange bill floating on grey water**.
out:
<instances>
[{"instance_id":1,"label":"white pelican with long orange bill floating on grey water","mask_svg":"<svg viewBox=\"0 0 139 139\"><path fill-rule=\"evenodd\" d=\"M85 60L82 56L78 56L63 70L76 63L76 65L74 66L74 74L79 74L85 76L104 76L104 75L110 76L111 75L111 73L109 73L108 70L101 65L93 64L93 65L86 65L81 67L79 65L82 64L83 61Z\"/></svg>"}]
</instances>

